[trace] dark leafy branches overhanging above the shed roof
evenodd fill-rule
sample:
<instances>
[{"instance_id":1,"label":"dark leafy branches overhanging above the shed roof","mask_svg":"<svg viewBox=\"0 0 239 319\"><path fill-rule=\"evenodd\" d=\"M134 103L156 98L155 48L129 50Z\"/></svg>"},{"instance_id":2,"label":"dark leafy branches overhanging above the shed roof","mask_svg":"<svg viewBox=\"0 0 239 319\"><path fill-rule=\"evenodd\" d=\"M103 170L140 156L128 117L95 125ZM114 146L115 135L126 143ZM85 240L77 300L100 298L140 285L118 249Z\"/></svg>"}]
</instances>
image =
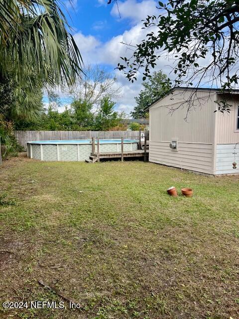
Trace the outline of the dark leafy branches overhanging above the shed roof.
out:
<instances>
[{"instance_id":1,"label":"dark leafy branches overhanging above the shed roof","mask_svg":"<svg viewBox=\"0 0 239 319\"><path fill-rule=\"evenodd\" d=\"M217 85L231 90L239 81L239 1L170 0L158 2L159 15L147 16L146 38L118 64L130 81L143 69L150 76L159 57L176 61L176 85Z\"/></svg>"}]
</instances>

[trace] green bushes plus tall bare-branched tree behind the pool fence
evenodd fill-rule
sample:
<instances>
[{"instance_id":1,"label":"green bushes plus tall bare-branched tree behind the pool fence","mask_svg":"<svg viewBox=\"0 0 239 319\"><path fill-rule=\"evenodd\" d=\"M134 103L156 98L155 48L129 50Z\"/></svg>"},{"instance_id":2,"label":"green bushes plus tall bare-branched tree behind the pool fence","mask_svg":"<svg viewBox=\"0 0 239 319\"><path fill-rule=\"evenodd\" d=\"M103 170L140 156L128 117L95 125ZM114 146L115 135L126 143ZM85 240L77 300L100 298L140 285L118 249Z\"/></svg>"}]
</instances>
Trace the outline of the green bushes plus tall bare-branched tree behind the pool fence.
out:
<instances>
[{"instance_id":1,"label":"green bushes plus tall bare-branched tree behind the pool fence","mask_svg":"<svg viewBox=\"0 0 239 319\"><path fill-rule=\"evenodd\" d=\"M107 131L119 126L123 113L115 110L121 88L117 79L99 65L87 65L83 74L76 78L73 85L64 83L60 88L72 103L59 112L61 98L56 88L46 86L49 107L44 108L39 95L38 107L41 112L33 119L13 118L15 130L50 131Z\"/></svg>"}]
</instances>

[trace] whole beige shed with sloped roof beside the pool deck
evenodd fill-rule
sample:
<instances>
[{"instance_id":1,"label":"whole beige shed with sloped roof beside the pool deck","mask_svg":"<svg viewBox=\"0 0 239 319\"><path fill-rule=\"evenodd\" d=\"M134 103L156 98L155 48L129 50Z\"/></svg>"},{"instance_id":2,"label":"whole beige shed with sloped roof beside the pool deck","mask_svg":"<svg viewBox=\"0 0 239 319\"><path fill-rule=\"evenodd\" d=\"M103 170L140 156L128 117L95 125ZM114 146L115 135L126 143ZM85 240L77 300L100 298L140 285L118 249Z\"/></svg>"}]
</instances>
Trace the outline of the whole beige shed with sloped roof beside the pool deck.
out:
<instances>
[{"instance_id":1,"label":"whole beige shed with sloped roof beside the pool deck","mask_svg":"<svg viewBox=\"0 0 239 319\"><path fill-rule=\"evenodd\" d=\"M230 113L214 112L222 100ZM239 90L175 87L148 109L149 161L212 175L239 173Z\"/></svg>"}]
</instances>

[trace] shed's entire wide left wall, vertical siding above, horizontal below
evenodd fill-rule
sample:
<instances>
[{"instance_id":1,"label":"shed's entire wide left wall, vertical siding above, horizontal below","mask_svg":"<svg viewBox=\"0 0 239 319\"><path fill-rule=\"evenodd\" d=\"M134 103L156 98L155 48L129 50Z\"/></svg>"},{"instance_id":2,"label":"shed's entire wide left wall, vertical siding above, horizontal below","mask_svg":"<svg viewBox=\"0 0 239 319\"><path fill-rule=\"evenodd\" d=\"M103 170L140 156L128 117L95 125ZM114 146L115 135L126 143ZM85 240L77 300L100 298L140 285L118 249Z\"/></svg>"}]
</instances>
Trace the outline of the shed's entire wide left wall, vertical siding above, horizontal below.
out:
<instances>
[{"instance_id":1,"label":"shed's entire wide left wall, vertical siding above, horizontal below","mask_svg":"<svg viewBox=\"0 0 239 319\"><path fill-rule=\"evenodd\" d=\"M192 91L176 90L151 106L149 110L149 161L214 173L214 139L216 117L215 92L197 92L194 108L187 116ZM170 108L177 108L172 114ZM178 139L178 152L169 147L172 139Z\"/></svg>"}]
</instances>

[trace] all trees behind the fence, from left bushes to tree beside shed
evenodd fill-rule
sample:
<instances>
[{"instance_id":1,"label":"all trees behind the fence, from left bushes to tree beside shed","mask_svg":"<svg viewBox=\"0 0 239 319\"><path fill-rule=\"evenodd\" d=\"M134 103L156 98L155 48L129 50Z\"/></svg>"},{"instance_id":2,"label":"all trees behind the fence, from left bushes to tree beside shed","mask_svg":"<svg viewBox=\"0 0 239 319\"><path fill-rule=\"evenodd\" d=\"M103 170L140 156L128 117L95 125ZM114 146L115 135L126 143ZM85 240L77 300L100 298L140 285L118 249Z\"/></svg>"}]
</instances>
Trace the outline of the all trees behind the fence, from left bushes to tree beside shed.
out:
<instances>
[{"instance_id":1,"label":"all trees behind the fence, from left bushes to tree beside shed","mask_svg":"<svg viewBox=\"0 0 239 319\"><path fill-rule=\"evenodd\" d=\"M171 88L171 83L162 71L152 74L148 81L143 82L143 89L135 97L136 106L130 113L134 119L147 118L145 108L162 97ZM124 130L120 124L126 118L124 113L115 111L113 99L120 97L121 88L117 79L98 65L88 65L84 69L84 76L78 78L74 86L67 88L67 96L73 98L71 105L60 113L60 97L48 88L49 107L33 121L17 119L15 130L37 131L109 131ZM41 103L41 101L39 101ZM138 123L131 123L132 131L142 130Z\"/></svg>"}]
</instances>

